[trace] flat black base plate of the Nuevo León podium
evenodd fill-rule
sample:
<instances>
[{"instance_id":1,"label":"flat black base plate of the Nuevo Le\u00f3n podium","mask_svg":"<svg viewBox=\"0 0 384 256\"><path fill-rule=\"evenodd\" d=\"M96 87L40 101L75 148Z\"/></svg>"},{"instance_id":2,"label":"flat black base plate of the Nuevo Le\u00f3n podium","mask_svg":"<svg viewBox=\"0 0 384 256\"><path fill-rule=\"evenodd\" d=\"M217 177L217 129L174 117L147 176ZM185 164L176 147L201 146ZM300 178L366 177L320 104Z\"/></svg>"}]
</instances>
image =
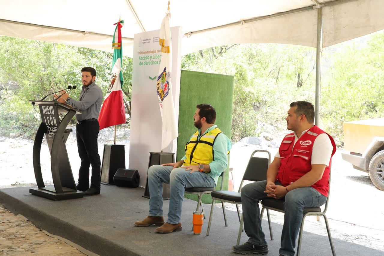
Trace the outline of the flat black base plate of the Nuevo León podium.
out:
<instances>
[{"instance_id":1,"label":"flat black base plate of the Nuevo Le\u00f3n podium","mask_svg":"<svg viewBox=\"0 0 384 256\"><path fill-rule=\"evenodd\" d=\"M49 186L45 188L30 188L29 193L35 196L41 196L51 200L63 200L63 199L73 199L73 198L82 198L85 194L83 191L73 190L71 188L63 188L63 193L56 193L54 186Z\"/></svg>"}]
</instances>

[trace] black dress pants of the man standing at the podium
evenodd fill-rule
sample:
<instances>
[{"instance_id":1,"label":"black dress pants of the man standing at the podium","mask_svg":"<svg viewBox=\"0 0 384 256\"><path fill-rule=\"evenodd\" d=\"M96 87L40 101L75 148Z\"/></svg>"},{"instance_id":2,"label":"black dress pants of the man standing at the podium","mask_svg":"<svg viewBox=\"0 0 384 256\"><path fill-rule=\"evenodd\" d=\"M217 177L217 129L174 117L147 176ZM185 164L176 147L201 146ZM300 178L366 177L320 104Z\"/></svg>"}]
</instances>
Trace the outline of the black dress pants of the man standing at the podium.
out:
<instances>
[{"instance_id":1,"label":"black dress pants of the man standing at the podium","mask_svg":"<svg viewBox=\"0 0 384 256\"><path fill-rule=\"evenodd\" d=\"M76 139L81 165L79 169L79 185L88 186L89 166L92 166L91 188L100 190L101 161L97 146L99 122L97 120L76 125Z\"/></svg>"}]
</instances>

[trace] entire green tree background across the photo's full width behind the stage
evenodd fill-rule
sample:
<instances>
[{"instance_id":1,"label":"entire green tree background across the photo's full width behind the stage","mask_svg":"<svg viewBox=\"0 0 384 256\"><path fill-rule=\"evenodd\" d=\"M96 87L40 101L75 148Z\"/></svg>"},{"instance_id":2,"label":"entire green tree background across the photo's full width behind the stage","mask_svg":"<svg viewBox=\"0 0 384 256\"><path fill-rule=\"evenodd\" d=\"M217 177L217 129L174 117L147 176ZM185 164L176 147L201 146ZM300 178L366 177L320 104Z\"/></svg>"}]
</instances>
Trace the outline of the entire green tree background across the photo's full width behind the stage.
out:
<instances>
[{"instance_id":1,"label":"entire green tree background across the photo's full width behind the stage","mask_svg":"<svg viewBox=\"0 0 384 256\"><path fill-rule=\"evenodd\" d=\"M384 112L384 33L375 33L366 43L353 42L323 50L320 127L339 140L345 121L382 117ZM81 86L83 66L96 69L97 83L105 95L112 57L112 53L88 48L0 37L2 133L33 134L40 117L27 101L67 85ZM132 64L131 58L123 58L122 90L129 115ZM292 101L315 101L316 49L310 47L222 45L183 56L181 68L234 76L232 141L257 136L265 131L260 128L262 123L285 130ZM14 85L12 90L10 86L1 88L7 83ZM78 97L79 92L71 91L71 96Z\"/></svg>"}]
</instances>

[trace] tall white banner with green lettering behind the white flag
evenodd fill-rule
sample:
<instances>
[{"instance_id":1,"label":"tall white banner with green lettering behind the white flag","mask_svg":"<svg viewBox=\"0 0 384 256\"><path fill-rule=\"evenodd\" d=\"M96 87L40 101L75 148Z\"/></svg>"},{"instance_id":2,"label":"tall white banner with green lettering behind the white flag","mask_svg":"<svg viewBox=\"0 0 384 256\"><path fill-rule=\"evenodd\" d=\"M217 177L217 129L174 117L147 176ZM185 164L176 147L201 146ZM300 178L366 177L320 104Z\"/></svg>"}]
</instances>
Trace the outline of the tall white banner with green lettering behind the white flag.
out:
<instances>
[{"instance_id":1,"label":"tall white banner with green lettering behind the white flag","mask_svg":"<svg viewBox=\"0 0 384 256\"><path fill-rule=\"evenodd\" d=\"M172 27L170 30L172 35L172 77L170 81L178 122L180 48L183 33L182 27ZM162 120L156 90L161 60L159 32L160 30L153 30L134 35L129 169L139 171L139 186L141 187L146 185L149 152L161 151ZM174 140L164 149L164 152L175 153L176 157L176 145L177 140Z\"/></svg>"}]
</instances>

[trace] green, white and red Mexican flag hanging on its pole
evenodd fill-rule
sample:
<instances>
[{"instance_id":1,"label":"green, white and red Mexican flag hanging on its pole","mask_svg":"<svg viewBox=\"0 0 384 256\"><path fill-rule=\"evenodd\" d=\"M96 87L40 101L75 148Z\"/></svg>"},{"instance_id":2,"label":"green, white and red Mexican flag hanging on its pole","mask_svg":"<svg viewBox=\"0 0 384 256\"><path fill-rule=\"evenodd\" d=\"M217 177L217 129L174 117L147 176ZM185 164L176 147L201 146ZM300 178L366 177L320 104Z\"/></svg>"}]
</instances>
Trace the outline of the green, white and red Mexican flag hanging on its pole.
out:
<instances>
[{"instance_id":1,"label":"green, white and red Mexican flag hanging on its pole","mask_svg":"<svg viewBox=\"0 0 384 256\"><path fill-rule=\"evenodd\" d=\"M121 28L124 20L115 23L115 33L112 40L113 61L111 81L109 83L107 95L99 115L100 130L112 125L120 125L125 123L125 108L122 99L121 86L123 83L121 73L122 61L122 45L121 45Z\"/></svg>"}]
</instances>

